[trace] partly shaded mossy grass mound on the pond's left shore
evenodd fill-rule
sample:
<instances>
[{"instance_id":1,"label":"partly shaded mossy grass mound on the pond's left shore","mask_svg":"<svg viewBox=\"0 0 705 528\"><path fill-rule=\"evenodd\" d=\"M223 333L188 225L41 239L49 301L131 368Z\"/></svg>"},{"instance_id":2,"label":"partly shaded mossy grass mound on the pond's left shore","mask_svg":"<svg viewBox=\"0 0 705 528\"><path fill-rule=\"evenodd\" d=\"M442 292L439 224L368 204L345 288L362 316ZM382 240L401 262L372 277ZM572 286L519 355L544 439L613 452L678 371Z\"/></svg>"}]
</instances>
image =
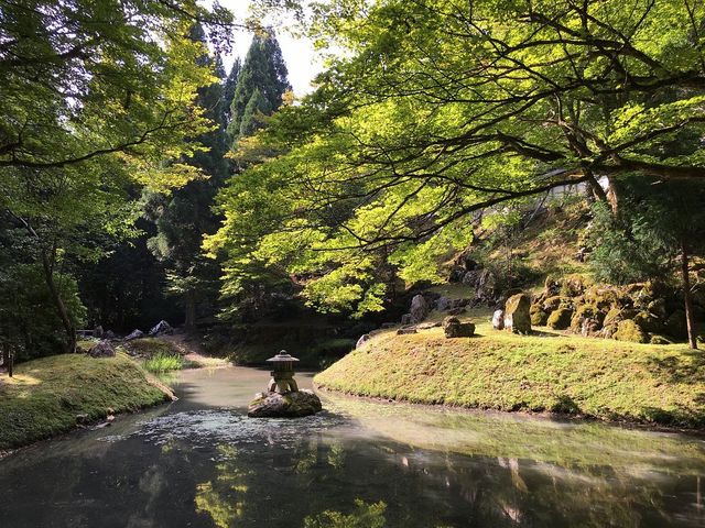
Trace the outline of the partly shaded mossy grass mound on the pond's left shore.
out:
<instances>
[{"instance_id":1,"label":"partly shaded mossy grass mound on the pond's left shore","mask_svg":"<svg viewBox=\"0 0 705 528\"><path fill-rule=\"evenodd\" d=\"M126 354L68 354L17 366L0 376L0 450L65 432L82 421L170 400L171 393Z\"/></svg>"}]
</instances>

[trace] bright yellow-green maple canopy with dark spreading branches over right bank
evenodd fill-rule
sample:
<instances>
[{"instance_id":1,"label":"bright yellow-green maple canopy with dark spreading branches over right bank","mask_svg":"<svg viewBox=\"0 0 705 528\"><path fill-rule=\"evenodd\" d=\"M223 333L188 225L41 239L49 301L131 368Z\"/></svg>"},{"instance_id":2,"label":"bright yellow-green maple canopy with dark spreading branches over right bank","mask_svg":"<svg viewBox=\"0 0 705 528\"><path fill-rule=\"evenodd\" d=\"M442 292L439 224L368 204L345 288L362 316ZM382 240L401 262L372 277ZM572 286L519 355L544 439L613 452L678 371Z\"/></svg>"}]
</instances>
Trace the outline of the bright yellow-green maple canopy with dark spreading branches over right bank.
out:
<instances>
[{"instance_id":1,"label":"bright yellow-green maple canopy with dark spreading branches over right bank","mask_svg":"<svg viewBox=\"0 0 705 528\"><path fill-rule=\"evenodd\" d=\"M681 0L321 6L311 35L343 53L260 134L286 154L230 183L210 248L242 258L246 240L311 299L378 309L380 261L437 278L478 211L577 183L605 201L603 175L704 182L704 14Z\"/></svg>"}]
</instances>

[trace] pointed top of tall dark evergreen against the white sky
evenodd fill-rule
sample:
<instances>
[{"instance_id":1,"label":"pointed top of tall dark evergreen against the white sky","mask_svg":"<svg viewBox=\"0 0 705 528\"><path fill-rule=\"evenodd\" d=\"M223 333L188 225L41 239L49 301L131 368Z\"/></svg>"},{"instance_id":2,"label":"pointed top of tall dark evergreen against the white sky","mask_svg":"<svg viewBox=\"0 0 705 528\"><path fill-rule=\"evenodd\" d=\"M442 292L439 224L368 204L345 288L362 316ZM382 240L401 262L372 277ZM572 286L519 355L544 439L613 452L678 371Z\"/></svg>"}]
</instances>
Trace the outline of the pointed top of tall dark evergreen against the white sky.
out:
<instances>
[{"instance_id":1,"label":"pointed top of tall dark evergreen against the white sky","mask_svg":"<svg viewBox=\"0 0 705 528\"><path fill-rule=\"evenodd\" d=\"M284 92L291 90L286 76L286 65L274 32L256 35L230 103L228 135L231 141L259 128L258 112L270 114L282 105Z\"/></svg>"}]
</instances>

